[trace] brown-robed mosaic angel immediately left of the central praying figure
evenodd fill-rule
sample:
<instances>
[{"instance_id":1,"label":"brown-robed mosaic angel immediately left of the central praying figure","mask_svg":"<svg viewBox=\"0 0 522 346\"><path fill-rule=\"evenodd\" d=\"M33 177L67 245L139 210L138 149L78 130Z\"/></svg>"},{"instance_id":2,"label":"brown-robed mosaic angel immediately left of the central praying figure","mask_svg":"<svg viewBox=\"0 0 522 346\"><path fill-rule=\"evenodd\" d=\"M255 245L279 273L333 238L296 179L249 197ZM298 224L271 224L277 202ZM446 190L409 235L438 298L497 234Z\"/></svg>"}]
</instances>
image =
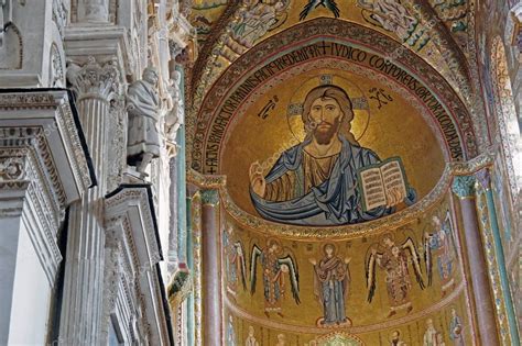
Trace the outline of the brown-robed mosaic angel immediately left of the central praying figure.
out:
<instances>
[{"instance_id":1,"label":"brown-robed mosaic angel immediately left of the central praying figure","mask_svg":"<svg viewBox=\"0 0 522 346\"><path fill-rule=\"evenodd\" d=\"M276 239L269 239L267 247L261 249L258 245L252 246L250 255L250 293L255 292L257 265L261 259L263 269L264 289L264 314L270 317L271 312L281 313L282 299L286 292L285 276L290 277L290 287L295 303L300 304L300 278L297 265L290 254L283 255L281 243Z\"/></svg>"}]
</instances>

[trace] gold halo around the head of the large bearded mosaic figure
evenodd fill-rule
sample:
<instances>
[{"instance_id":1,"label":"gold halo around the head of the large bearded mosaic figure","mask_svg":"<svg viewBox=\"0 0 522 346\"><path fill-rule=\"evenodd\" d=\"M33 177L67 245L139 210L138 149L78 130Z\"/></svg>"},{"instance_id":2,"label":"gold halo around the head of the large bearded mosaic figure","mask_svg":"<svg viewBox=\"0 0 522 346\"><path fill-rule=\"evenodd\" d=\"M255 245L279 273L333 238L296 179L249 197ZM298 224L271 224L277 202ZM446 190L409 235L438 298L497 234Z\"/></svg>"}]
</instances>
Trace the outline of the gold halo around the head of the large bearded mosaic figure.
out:
<instances>
[{"instance_id":1,"label":"gold halo around the head of the large bearded mosaic figure","mask_svg":"<svg viewBox=\"0 0 522 346\"><path fill-rule=\"evenodd\" d=\"M305 138L304 123L301 118L303 102L308 92L318 86L337 86L346 91L352 103L354 120L351 121L351 133L359 141L366 133L370 122L370 107L365 92L348 79L335 74L320 74L302 83L290 98L286 109L286 121L290 132L298 142Z\"/></svg>"}]
</instances>

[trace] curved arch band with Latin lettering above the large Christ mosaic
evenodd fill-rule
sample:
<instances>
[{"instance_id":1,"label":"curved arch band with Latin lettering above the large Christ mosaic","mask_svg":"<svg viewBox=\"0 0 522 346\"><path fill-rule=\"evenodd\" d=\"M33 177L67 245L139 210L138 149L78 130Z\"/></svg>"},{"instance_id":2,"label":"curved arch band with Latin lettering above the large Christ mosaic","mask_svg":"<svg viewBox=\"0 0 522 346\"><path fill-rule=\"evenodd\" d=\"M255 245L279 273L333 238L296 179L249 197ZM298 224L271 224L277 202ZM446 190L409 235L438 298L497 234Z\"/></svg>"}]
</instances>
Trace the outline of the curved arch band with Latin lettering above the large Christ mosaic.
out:
<instances>
[{"instance_id":1,"label":"curved arch band with Latin lettering above the large Christ mosaic","mask_svg":"<svg viewBox=\"0 0 522 346\"><path fill-rule=\"evenodd\" d=\"M197 116L187 121L192 168L219 174L221 146L235 121L244 115L240 112L243 103L292 67L325 59L360 67L407 90L423 104L446 161L477 156L470 114L436 70L384 34L319 18L261 42L214 83Z\"/></svg>"}]
</instances>

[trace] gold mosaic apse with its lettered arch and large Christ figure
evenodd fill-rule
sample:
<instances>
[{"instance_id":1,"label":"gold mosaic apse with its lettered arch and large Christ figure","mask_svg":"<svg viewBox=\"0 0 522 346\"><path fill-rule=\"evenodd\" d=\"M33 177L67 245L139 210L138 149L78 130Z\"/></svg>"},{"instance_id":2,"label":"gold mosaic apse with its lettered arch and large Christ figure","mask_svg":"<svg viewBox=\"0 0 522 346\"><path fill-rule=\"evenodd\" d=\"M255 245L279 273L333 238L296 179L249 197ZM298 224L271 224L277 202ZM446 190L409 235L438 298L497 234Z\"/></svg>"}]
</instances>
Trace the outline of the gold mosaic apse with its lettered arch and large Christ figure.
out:
<instances>
[{"instance_id":1,"label":"gold mosaic apse with its lettered arch and large Christ figure","mask_svg":"<svg viewBox=\"0 0 522 346\"><path fill-rule=\"evenodd\" d=\"M202 185L221 217L200 284L219 270L227 345L475 345L477 311L504 316L477 301L497 257L469 252L497 244L474 233L492 232L476 177L493 160L470 160L466 105L388 36L327 19L271 36L216 80L189 138L192 169L220 176Z\"/></svg>"}]
</instances>

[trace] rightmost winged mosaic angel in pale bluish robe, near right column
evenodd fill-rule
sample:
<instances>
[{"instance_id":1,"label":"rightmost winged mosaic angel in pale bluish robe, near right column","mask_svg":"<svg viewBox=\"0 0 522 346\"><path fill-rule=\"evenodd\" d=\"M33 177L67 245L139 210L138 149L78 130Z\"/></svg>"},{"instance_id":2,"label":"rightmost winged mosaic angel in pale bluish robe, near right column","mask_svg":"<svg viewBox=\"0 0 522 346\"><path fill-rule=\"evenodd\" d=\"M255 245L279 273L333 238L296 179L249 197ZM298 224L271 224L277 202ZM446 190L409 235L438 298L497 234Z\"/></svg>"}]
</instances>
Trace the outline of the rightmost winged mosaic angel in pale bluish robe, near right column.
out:
<instances>
[{"instance_id":1,"label":"rightmost winged mosaic angel in pale bluish robe, near right column","mask_svg":"<svg viewBox=\"0 0 522 346\"><path fill-rule=\"evenodd\" d=\"M427 269L427 282L432 284L433 260L432 252L437 256L437 270L441 278L443 297L455 287L453 268L455 260L455 243L452 231L452 220L449 212L446 214L444 223L438 216L433 216L433 233L424 233L424 261Z\"/></svg>"}]
</instances>

